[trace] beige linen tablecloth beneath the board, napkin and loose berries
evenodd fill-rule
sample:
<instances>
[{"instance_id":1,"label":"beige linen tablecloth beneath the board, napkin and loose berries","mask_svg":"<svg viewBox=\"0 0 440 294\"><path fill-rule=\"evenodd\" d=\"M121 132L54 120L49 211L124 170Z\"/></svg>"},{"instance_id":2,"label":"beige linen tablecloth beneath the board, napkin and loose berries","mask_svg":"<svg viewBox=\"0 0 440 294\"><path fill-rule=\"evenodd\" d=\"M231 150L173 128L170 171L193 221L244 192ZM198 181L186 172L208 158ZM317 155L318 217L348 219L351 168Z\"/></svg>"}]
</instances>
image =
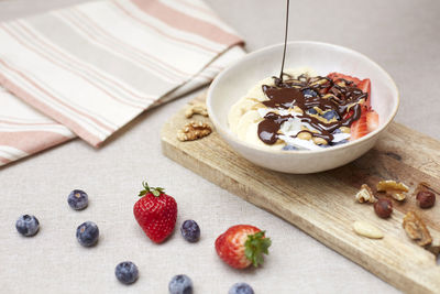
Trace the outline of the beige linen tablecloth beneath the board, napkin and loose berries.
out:
<instances>
[{"instance_id":1,"label":"beige linen tablecloth beneath the board, napkin and loose berries","mask_svg":"<svg viewBox=\"0 0 440 294\"><path fill-rule=\"evenodd\" d=\"M79 1L0 0L0 20L74 2ZM207 2L246 40L248 50L283 39L282 0ZM440 139L439 10L436 0L293 1L290 40L331 42L369 55L400 89L397 121ZM193 279L195 293L227 293L239 281L260 294L397 292L289 224L164 157L158 131L191 97L141 116L101 150L76 140L0 170L1 293L167 293L169 279L178 273ZM161 246L143 235L131 211L143 179L175 196L178 226L188 218L199 222L198 243L185 242L178 231ZM73 188L89 193L86 210L68 207ZM22 238L14 229L25 213L41 221L34 238ZM91 249L75 239L76 227L86 220L101 231ZM260 270L231 270L215 253L216 237L242 222L266 229L273 239ZM123 260L140 269L132 286L114 277L114 266Z\"/></svg>"}]
</instances>

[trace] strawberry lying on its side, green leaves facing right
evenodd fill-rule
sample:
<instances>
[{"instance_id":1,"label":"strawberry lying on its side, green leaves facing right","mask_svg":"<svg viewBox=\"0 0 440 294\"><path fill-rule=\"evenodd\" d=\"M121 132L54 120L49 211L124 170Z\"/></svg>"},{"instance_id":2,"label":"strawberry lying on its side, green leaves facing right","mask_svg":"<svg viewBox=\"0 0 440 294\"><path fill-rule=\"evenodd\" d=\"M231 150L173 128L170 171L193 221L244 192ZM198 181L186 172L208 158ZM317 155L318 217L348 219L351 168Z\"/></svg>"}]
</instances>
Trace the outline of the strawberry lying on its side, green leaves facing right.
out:
<instances>
[{"instance_id":1,"label":"strawberry lying on its side, green leaves facing right","mask_svg":"<svg viewBox=\"0 0 440 294\"><path fill-rule=\"evenodd\" d=\"M263 254L268 254L272 243L264 235L265 231L253 226L233 226L217 238L217 254L232 268L244 269L251 264L256 268L264 262Z\"/></svg>"}]
</instances>

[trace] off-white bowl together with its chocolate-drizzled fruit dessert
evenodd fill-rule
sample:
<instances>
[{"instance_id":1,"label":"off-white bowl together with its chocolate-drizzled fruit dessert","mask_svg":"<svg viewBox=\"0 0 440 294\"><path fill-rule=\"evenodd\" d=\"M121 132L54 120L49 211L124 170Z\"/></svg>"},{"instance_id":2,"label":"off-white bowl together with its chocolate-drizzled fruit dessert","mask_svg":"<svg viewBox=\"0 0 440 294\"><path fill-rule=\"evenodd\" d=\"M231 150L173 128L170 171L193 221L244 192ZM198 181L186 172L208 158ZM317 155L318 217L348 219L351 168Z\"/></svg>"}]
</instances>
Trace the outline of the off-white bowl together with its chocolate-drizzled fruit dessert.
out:
<instances>
[{"instance_id":1,"label":"off-white bowl together with its chocolate-drizzled fruit dessert","mask_svg":"<svg viewBox=\"0 0 440 294\"><path fill-rule=\"evenodd\" d=\"M253 52L215 79L207 107L219 134L249 161L286 173L331 170L369 151L398 109L389 75L352 50L302 41L287 44L294 70L280 79L282 53L282 44Z\"/></svg>"}]
</instances>

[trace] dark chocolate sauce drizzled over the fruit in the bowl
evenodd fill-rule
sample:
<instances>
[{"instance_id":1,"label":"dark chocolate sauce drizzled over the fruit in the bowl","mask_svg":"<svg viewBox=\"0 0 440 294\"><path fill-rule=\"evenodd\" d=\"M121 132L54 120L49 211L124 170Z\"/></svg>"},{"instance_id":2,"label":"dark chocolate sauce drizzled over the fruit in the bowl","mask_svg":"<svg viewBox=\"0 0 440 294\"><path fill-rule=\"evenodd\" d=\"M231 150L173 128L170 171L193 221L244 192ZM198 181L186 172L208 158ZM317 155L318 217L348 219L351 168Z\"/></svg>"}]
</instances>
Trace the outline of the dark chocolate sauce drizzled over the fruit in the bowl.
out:
<instances>
[{"instance_id":1,"label":"dark chocolate sauce drizzled over the fruit in the bowl","mask_svg":"<svg viewBox=\"0 0 440 294\"><path fill-rule=\"evenodd\" d=\"M333 140L333 133L339 128L350 128L361 117L362 106L360 102L369 99L366 92L355 87L352 81L342 78L333 81L328 77L320 76L307 77L301 75L297 79L286 74L283 74L283 76L287 76L287 79L273 77L275 86L262 86L263 92L268 98L268 100L263 101L263 105L277 109L299 107L302 115L295 117L317 130L317 132L307 132L312 137L324 139L328 143ZM306 90L309 90L309 94L312 95L305 95ZM317 116L308 113L307 110L312 108L319 108L323 112L333 110L339 120L323 121ZM258 123L258 138L266 144L275 144L278 140L280 126L289 118L294 118L294 116L268 112Z\"/></svg>"}]
</instances>

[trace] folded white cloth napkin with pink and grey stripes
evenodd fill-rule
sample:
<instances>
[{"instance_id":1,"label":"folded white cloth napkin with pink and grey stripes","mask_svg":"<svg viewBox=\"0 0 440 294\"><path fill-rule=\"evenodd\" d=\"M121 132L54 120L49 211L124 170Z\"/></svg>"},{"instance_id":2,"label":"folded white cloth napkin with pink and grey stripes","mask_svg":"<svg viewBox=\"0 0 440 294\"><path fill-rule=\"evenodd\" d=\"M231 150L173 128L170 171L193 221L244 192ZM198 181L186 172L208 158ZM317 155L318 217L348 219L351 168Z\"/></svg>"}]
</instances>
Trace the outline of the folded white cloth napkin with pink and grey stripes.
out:
<instances>
[{"instance_id":1,"label":"folded white cloth napkin with pink and grey stripes","mask_svg":"<svg viewBox=\"0 0 440 294\"><path fill-rule=\"evenodd\" d=\"M14 96L0 91L0 165L74 133L99 146L212 80L242 43L199 0L97 1L1 23L0 85Z\"/></svg>"}]
</instances>

